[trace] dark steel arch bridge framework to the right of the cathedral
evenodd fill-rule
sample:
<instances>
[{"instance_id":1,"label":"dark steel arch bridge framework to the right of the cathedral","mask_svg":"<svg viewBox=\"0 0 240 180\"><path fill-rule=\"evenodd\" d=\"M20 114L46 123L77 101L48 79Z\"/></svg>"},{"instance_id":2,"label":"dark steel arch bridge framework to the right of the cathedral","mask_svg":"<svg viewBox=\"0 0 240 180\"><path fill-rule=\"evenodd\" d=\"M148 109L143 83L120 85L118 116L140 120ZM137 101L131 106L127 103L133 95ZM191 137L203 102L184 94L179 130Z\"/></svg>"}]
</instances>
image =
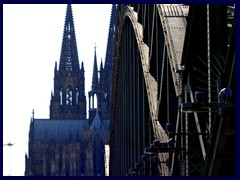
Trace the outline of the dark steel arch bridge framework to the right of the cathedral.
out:
<instances>
[{"instance_id":1,"label":"dark steel arch bridge framework to the right of the cathedral","mask_svg":"<svg viewBox=\"0 0 240 180\"><path fill-rule=\"evenodd\" d=\"M215 122L225 118L218 113L222 106L217 96L223 87L234 88L223 78L228 73L233 82L233 9L226 5L118 5L110 175L214 174L206 169L209 163L214 168L214 158L209 157L216 155L221 139ZM207 95L203 109L196 111L194 92L199 91ZM226 106L229 103L234 102ZM186 111L187 105L192 109Z\"/></svg>"}]
</instances>

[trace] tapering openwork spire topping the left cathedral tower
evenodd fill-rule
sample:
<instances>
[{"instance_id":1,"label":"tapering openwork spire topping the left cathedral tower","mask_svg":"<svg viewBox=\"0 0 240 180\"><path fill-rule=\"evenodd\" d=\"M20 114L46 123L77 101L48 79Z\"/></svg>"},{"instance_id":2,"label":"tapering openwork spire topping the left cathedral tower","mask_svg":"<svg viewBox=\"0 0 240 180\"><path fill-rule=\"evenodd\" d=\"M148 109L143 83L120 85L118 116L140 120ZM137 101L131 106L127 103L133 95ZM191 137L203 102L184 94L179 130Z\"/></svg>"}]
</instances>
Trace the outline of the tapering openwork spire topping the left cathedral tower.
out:
<instances>
[{"instance_id":1,"label":"tapering openwork spire topping the left cathedral tower","mask_svg":"<svg viewBox=\"0 0 240 180\"><path fill-rule=\"evenodd\" d=\"M79 70L78 51L71 4L67 5L59 70Z\"/></svg>"}]
</instances>

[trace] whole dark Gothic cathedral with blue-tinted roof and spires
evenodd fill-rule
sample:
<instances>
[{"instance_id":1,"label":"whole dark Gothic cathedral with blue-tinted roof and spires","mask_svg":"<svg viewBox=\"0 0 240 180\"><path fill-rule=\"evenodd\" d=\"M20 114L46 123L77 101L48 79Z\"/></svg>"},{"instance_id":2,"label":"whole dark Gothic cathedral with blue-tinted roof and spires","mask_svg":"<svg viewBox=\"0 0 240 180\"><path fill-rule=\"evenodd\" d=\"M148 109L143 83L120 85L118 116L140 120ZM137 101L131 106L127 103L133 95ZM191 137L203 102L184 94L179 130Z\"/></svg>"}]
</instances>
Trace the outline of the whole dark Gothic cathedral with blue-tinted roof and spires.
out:
<instances>
[{"instance_id":1,"label":"whole dark Gothic cathedral with blue-tinted roof and spires","mask_svg":"<svg viewBox=\"0 0 240 180\"><path fill-rule=\"evenodd\" d=\"M105 64L94 55L86 117L85 70L79 64L72 7L67 5L59 65L55 63L50 118L31 118L25 176L103 176L109 144L112 48L116 6L109 26ZM100 77L99 77L100 75ZM96 98L95 98L96 97ZM94 100L97 106L94 107Z\"/></svg>"}]
</instances>

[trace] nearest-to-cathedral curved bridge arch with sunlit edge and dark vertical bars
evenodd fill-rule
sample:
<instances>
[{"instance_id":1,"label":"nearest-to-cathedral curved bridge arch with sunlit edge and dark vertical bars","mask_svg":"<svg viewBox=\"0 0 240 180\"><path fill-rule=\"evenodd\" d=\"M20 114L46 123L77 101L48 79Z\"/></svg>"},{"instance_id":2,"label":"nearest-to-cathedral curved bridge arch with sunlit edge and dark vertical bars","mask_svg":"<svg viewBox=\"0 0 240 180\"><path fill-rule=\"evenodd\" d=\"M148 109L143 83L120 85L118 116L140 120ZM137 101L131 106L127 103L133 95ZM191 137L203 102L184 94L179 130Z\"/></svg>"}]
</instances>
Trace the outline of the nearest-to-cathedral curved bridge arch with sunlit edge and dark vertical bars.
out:
<instances>
[{"instance_id":1,"label":"nearest-to-cathedral curved bridge arch with sunlit edge and dark vertical bars","mask_svg":"<svg viewBox=\"0 0 240 180\"><path fill-rule=\"evenodd\" d=\"M113 70L111 138L117 134L121 142L122 147L119 147L112 141L112 148L115 149L115 157L119 154L127 156L119 159L126 159L120 162L120 171L126 171L131 168L129 164L141 161L144 148L154 139L166 142L168 137L158 121L157 81L150 73L149 47L144 42L143 26L138 22L133 7L125 8L118 30ZM115 126L122 127L122 131ZM167 153L160 153L159 159L166 161ZM168 174L166 163L161 163L159 168L162 175Z\"/></svg>"}]
</instances>

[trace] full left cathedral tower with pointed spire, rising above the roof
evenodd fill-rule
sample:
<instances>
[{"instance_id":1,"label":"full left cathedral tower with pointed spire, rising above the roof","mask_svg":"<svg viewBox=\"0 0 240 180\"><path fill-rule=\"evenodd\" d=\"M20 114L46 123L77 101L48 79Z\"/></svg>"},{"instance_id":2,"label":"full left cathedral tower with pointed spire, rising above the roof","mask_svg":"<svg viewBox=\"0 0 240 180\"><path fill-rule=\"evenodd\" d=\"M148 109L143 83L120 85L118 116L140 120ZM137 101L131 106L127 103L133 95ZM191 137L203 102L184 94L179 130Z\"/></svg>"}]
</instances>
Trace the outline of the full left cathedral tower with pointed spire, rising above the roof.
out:
<instances>
[{"instance_id":1,"label":"full left cathedral tower with pointed spire, rising above the roof","mask_svg":"<svg viewBox=\"0 0 240 180\"><path fill-rule=\"evenodd\" d=\"M59 68L55 63L50 119L86 119L84 65L79 66L72 7L67 5Z\"/></svg>"}]
</instances>

